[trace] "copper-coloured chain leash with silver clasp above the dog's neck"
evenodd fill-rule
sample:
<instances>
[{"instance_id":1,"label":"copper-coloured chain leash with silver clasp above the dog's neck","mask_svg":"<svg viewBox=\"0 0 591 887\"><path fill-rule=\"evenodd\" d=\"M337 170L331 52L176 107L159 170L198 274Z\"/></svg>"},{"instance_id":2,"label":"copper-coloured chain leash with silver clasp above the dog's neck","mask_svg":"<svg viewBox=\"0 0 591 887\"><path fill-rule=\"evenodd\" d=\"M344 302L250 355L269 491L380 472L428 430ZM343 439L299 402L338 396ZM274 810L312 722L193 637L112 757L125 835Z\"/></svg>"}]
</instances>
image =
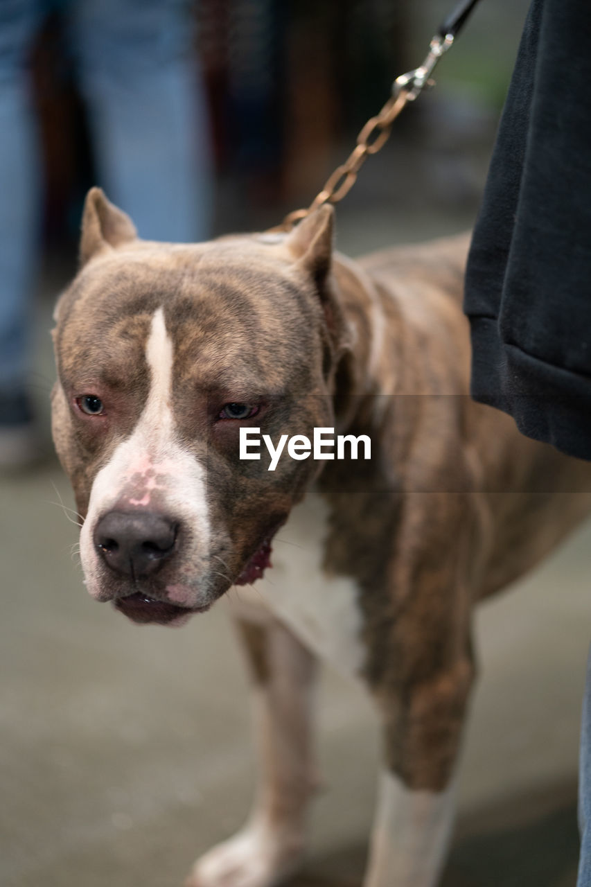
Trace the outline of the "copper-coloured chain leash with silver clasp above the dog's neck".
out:
<instances>
[{"instance_id":1,"label":"copper-coloured chain leash with silver clasp above the dog's neck","mask_svg":"<svg viewBox=\"0 0 591 887\"><path fill-rule=\"evenodd\" d=\"M399 75L392 83L392 93L382 110L366 122L357 137L357 144L344 163L338 166L327 178L323 188L318 192L310 206L295 209L288 213L281 224L270 229L271 232L289 232L294 225L309 216L324 203L338 203L351 191L363 166L370 154L376 154L390 137L392 123L409 102L414 102L422 90L435 86L431 78L434 68L441 57L453 45L455 37L476 6L477 0L464 0L454 9L452 14L442 23L437 34L429 43L429 52L422 65L414 70Z\"/></svg>"}]
</instances>

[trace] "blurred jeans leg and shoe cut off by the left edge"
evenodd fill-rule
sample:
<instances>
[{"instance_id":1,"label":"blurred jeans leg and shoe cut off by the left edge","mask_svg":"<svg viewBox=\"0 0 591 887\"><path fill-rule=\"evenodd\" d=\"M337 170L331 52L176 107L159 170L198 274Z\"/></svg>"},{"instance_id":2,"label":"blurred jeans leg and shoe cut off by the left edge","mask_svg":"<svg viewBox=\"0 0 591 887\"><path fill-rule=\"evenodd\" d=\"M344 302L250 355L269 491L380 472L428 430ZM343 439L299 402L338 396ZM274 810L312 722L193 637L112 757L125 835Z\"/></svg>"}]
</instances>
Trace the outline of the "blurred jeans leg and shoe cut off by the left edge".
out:
<instances>
[{"instance_id":1,"label":"blurred jeans leg and shoe cut off by the left edge","mask_svg":"<svg viewBox=\"0 0 591 887\"><path fill-rule=\"evenodd\" d=\"M40 159L29 63L40 0L0 4L0 467L37 452L28 326L35 274Z\"/></svg>"}]
</instances>

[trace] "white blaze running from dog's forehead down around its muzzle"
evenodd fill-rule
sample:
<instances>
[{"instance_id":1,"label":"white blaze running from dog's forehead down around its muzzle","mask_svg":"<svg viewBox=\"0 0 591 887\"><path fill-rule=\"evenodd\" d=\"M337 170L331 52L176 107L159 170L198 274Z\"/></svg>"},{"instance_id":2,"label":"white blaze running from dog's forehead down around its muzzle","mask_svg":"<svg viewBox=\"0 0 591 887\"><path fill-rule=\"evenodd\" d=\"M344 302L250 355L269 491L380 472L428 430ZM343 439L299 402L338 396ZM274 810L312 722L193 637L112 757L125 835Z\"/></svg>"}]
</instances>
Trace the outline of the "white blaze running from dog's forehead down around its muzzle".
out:
<instances>
[{"instance_id":1,"label":"white blaze running from dog's forehead down around its muzzle","mask_svg":"<svg viewBox=\"0 0 591 887\"><path fill-rule=\"evenodd\" d=\"M116 506L122 511L143 507L156 510L185 526L189 541L178 555L182 572L170 586L170 597L187 606L204 602L202 595L206 590L201 588L200 592L199 586L203 578L200 562L207 558L209 549L205 477L201 463L177 442L171 409L173 357L173 343L161 307L154 312L146 341L150 389L144 411L131 435L118 444L98 472L80 534L86 585L98 600L108 596L100 583L106 568L95 549L93 533L100 518ZM126 489L133 493L126 494ZM153 506L154 491L158 492L158 506Z\"/></svg>"}]
</instances>

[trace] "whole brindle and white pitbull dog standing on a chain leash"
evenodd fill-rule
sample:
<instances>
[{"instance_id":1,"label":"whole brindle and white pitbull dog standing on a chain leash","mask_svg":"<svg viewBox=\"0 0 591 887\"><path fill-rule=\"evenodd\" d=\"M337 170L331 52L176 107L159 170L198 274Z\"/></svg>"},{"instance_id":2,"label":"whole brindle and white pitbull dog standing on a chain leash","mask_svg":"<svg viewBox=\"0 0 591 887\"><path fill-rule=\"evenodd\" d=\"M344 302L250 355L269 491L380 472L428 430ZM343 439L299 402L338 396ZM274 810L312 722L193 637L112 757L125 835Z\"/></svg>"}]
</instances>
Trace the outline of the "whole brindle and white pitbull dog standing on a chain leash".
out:
<instances>
[{"instance_id":1,"label":"whole brindle and white pitbull dog standing on a chain leash","mask_svg":"<svg viewBox=\"0 0 591 887\"><path fill-rule=\"evenodd\" d=\"M192 887L268 887L303 852L316 657L383 726L365 887L437 881L474 677L476 600L589 511L591 468L473 403L466 237L332 253L333 213L285 236L139 240L98 189L59 301L53 434L85 515L86 584L136 622L183 624L234 584L256 683L261 786ZM366 434L369 461L240 460L240 428ZM320 469L323 469L320 471ZM282 527L270 569L274 534Z\"/></svg>"}]
</instances>

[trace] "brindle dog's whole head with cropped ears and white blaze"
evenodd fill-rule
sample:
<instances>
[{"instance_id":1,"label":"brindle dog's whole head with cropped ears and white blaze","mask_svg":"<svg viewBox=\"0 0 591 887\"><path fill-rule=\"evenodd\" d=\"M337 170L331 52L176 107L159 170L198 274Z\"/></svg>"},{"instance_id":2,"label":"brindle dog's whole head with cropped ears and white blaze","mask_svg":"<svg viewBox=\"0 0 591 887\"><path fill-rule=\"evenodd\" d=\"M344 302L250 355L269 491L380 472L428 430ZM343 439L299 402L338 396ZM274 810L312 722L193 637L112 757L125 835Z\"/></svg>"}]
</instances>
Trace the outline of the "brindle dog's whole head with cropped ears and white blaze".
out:
<instances>
[{"instance_id":1,"label":"brindle dog's whole head with cropped ears and white blaze","mask_svg":"<svg viewBox=\"0 0 591 887\"><path fill-rule=\"evenodd\" d=\"M322 463L240 460L240 428L276 441L333 424L331 247L329 208L284 237L163 244L89 193L56 309L52 426L93 597L180 624L262 575Z\"/></svg>"}]
</instances>

